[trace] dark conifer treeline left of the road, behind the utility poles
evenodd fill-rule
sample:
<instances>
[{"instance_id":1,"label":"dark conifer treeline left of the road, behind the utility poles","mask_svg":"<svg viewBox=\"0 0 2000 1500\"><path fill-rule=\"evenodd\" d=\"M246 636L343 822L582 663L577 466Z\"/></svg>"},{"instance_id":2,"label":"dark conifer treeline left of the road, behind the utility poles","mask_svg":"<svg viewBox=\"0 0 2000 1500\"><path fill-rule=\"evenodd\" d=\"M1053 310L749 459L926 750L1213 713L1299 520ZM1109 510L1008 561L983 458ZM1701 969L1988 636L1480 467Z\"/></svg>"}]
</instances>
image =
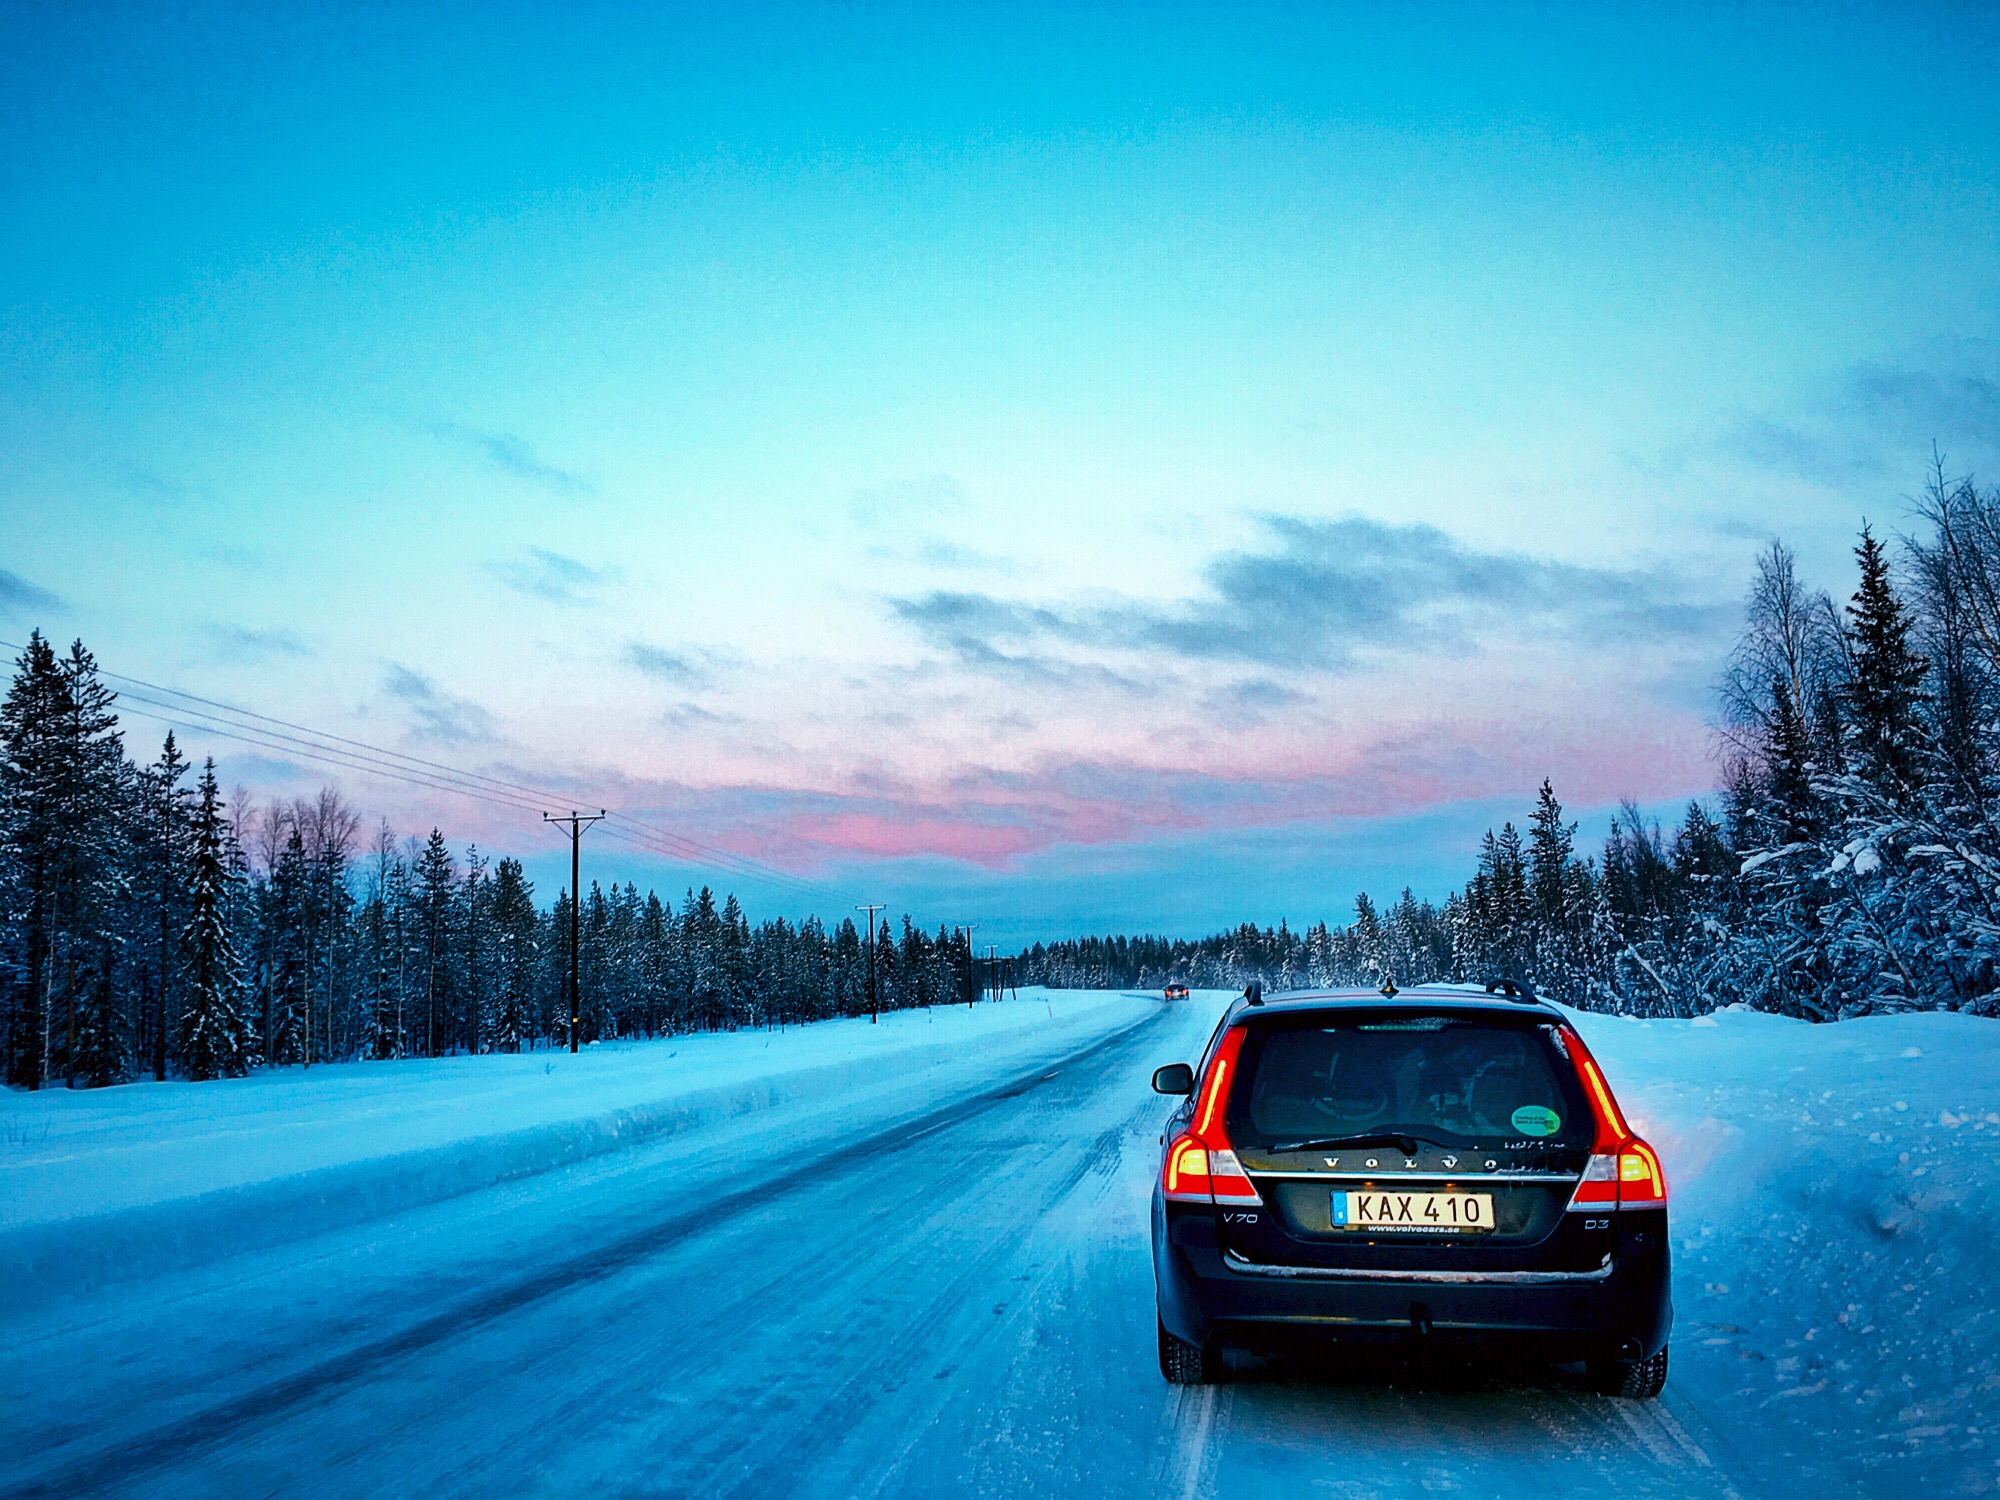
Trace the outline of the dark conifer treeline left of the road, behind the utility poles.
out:
<instances>
[{"instance_id":1,"label":"dark conifer treeline left of the road, behind the utility poles","mask_svg":"<svg viewBox=\"0 0 2000 1500\"><path fill-rule=\"evenodd\" d=\"M0 704L0 1034L6 1082L226 1078L258 1064L568 1044L570 892L544 910L518 860L398 840L334 788L224 800L168 732L126 756L82 642L36 630ZM964 932L876 934L882 1010L962 1002ZM582 1042L866 1014L852 918L752 926L702 886L582 896Z\"/></svg>"}]
</instances>

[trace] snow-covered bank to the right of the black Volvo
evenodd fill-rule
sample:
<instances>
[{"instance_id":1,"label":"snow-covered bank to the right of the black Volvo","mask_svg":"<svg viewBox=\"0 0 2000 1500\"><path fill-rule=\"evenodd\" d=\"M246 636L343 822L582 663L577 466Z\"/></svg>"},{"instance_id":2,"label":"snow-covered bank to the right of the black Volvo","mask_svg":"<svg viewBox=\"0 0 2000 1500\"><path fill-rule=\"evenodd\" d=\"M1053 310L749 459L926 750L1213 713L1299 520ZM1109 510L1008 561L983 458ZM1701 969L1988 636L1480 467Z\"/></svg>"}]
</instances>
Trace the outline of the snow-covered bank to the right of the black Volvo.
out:
<instances>
[{"instance_id":1,"label":"snow-covered bank to the right of the black Volvo","mask_svg":"<svg viewBox=\"0 0 2000 1500\"><path fill-rule=\"evenodd\" d=\"M1760 1468L2000 1488L2000 1024L1578 1022L1668 1162L1676 1386Z\"/></svg>"}]
</instances>

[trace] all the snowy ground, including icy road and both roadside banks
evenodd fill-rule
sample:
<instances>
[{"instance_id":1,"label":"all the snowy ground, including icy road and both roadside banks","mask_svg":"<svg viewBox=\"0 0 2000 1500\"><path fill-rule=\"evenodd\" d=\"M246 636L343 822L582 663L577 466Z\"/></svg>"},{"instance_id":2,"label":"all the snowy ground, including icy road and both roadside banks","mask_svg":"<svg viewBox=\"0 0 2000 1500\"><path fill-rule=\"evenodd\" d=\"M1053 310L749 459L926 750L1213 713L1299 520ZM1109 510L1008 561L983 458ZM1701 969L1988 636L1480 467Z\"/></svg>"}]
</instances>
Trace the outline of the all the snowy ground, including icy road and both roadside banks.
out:
<instances>
[{"instance_id":1,"label":"all the snowy ground, including icy road and both roadside banks","mask_svg":"<svg viewBox=\"0 0 2000 1500\"><path fill-rule=\"evenodd\" d=\"M218 1138L252 1160L214 1172L176 1086L118 1090L128 1102L90 1120L8 1098L0 1256L26 1270L0 1302L0 1492L1994 1488L1994 1328L1984 1282L1954 1290L1978 1268L1960 1232L2000 1138L2000 1048L1980 1022L1580 1018L1678 1168L1660 1402L1394 1360L1172 1390L1146 1248L1170 1102L1148 1074L1196 1054L1220 1000L1032 994L680 1038L576 1060L568 1082L556 1060L540 1094L508 1084L504 1104L494 1078L532 1078L540 1058L406 1064L376 1090L330 1068L332 1110L296 1076L250 1080ZM270 1108L260 1088L280 1090ZM452 1090L486 1102L424 1134L416 1166L370 1144L388 1190L368 1186L368 1154L298 1152L302 1118L388 1140L376 1116L424 1088L426 1114ZM158 1130L126 1116L148 1110ZM604 1110L644 1128L608 1130ZM270 1138L260 1120L280 1122ZM588 1148L550 1154L550 1138ZM144 1156L146 1140L170 1144ZM1822 1140L1844 1156L1816 1156ZM1960 1144L1988 1150L1946 1184ZM128 1150L174 1186L112 1170ZM438 1152L484 1166L440 1172ZM76 1186L90 1172L102 1212ZM236 1240L256 1194L320 1208ZM158 1254L134 1238L174 1214L228 1228L184 1224ZM1940 1324L1906 1314L1950 1322L1948 1366Z\"/></svg>"}]
</instances>

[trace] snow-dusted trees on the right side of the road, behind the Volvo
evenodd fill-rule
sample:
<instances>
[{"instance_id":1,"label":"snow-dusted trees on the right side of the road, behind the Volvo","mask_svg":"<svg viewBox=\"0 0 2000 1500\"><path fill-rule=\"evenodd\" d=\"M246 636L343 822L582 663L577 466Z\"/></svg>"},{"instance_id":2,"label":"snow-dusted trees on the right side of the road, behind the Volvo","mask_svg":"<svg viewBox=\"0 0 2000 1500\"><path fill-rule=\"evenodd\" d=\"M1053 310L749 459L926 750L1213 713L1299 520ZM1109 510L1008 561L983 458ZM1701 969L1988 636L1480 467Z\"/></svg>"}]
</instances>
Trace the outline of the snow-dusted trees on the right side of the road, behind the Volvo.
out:
<instances>
[{"instance_id":1,"label":"snow-dusted trees on the right side of the road, behind the Volvo","mask_svg":"<svg viewBox=\"0 0 2000 1500\"><path fill-rule=\"evenodd\" d=\"M1524 978L1592 1010L1748 1004L1810 1020L2000 1014L2000 492L1942 466L1854 588L1772 542L1716 688L1722 786L1664 830L1626 802L1578 856L1544 780L1442 906L1346 926L1034 944L1024 984L1234 988Z\"/></svg>"}]
</instances>

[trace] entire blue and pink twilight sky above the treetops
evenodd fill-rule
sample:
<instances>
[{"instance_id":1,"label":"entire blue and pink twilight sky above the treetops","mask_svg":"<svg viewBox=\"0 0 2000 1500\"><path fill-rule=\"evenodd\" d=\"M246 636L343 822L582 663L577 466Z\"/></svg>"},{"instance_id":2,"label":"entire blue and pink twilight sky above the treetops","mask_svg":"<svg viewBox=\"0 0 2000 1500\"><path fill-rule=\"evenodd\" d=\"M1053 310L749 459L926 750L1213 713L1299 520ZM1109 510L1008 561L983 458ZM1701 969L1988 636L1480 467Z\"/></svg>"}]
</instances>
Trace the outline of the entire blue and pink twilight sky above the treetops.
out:
<instances>
[{"instance_id":1,"label":"entire blue and pink twilight sky above the treetops","mask_svg":"<svg viewBox=\"0 0 2000 1500\"><path fill-rule=\"evenodd\" d=\"M822 906L1012 938L1444 894L1544 774L1594 830L1714 780L1764 538L1838 588L1932 444L1994 470L1976 8L0 42L0 638ZM512 814L344 788L558 874Z\"/></svg>"}]
</instances>

